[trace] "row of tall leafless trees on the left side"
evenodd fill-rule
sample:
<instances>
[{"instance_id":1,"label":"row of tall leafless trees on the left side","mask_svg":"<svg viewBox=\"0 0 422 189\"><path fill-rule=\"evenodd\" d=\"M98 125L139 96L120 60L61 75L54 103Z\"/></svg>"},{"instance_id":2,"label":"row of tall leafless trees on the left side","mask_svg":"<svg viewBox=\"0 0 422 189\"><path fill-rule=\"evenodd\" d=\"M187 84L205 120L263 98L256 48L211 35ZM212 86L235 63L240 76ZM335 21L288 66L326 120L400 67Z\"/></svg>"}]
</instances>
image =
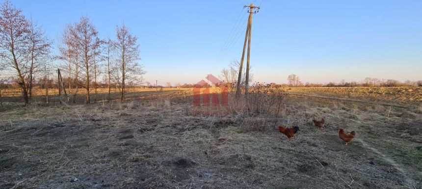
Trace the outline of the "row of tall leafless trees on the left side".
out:
<instances>
[{"instance_id":1,"label":"row of tall leafless trees on the left side","mask_svg":"<svg viewBox=\"0 0 422 189\"><path fill-rule=\"evenodd\" d=\"M139 45L137 37L122 24L116 26L115 39L100 39L95 25L87 17L67 24L59 40L59 54L51 54L52 40L43 28L26 18L22 10L6 0L0 7L0 83L15 85L21 89L26 104L32 99L34 86L51 88L57 82L56 68L64 75L63 85L68 99L76 95L79 88L86 91L86 103L94 102L97 88L116 87L120 100L124 100L127 87L142 82L145 73L138 63ZM61 65L53 65L61 60Z\"/></svg>"}]
</instances>

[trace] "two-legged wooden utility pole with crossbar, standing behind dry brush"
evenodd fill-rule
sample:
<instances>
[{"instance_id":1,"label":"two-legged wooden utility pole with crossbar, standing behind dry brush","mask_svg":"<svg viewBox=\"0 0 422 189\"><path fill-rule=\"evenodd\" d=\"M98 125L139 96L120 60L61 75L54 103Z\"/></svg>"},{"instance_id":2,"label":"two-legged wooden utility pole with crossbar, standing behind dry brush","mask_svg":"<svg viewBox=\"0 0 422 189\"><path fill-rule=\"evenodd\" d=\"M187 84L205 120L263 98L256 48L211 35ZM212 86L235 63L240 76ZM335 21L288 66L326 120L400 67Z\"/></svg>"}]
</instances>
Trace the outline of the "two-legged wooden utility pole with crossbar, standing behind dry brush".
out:
<instances>
[{"instance_id":1,"label":"two-legged wooden utility pole with crossbar, standing behind dry brush","mask_svg":"<svg viewBox=\"0 0 422 189\"><path fill-rule=\"evenodd\" d=\"M248 56L246 60L246 78L245 78L245 97L248 96L248 87L249 87L249 60L250 60L250 52L251 52L251 31L252 31L252 14L259 12L260 7L254 6L253 3L250 5L244 5L243 7L249 7L248 13L248 25L246 27L246 34L245 34L245 42L243 44L243 52L242 58L240 59L240 66L239 66L239 76L237 78L237 88L236 88L236 97L240 96L240 84L242 79L242 69L243 69L243 60L245 58L245 50L246 50L246 42L248 43ZM257 9L254 11L254 9Z\"/></svg>"}]
</instances>

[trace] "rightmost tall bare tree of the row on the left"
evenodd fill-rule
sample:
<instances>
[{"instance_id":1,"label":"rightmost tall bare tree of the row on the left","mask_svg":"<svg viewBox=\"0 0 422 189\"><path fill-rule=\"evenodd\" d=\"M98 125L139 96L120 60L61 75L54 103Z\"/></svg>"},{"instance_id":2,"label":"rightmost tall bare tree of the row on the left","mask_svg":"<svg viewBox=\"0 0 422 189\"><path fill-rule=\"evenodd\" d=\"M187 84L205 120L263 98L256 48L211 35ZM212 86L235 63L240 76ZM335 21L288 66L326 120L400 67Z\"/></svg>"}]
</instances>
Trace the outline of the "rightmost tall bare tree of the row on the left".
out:
<instances>
[{"instance_id":1,"label":"rightmost tall bare tree of the row on the left","mask_svg":"<svg viewBox=\"0 0 422 189\"><path fill-rule=\"evenodd\" d=\"M122 24L116 27L116 41L114 48L116 52L116 78L120 87L120 101L123 101L126 87L142 81L142 67L136 62L140 60L139 45L136 44L137 37L129 33L129 28Z\"/></svg>"}]
</instances>

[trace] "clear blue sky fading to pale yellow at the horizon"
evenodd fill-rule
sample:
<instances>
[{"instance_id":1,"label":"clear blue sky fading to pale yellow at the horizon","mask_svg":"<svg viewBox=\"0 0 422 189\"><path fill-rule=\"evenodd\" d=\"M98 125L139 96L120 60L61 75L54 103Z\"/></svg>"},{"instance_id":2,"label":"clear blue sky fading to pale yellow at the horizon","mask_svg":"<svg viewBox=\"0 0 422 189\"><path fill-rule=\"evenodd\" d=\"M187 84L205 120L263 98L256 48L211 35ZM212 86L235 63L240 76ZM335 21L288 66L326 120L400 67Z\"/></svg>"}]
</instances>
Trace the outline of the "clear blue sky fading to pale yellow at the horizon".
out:
<instances>
[{"instance_id":1,"label":"clear blue sky fading to pale yellow at the horizon","mask_svg":"<svg viewBox=\"0 0 422 189\"><path fill-rule=\"evenodd\" d=\"M12 0L55 49L81 16L102 38L125 23L138 37L145 81L158 85L196 83L239 61L251 2L261 7L254 81L287 83L293 73L313 83L422 79L422 0Z\"/></svg>"}]
</instances>

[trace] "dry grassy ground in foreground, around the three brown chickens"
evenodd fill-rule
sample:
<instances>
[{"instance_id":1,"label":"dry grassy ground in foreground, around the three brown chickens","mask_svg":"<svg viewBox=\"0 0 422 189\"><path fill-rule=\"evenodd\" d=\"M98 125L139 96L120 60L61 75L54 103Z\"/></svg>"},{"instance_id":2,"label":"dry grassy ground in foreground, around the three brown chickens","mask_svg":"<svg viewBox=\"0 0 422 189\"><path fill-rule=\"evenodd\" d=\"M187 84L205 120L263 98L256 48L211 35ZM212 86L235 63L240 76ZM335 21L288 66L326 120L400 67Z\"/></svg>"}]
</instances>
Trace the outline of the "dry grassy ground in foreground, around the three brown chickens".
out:
<instances>
[{"instance_id":1,"label":"dry grassy ground in foreground, around the three brown chickens","mask_svg":"<svg viewBox=\"0 0 422 189\"><path fill-rule=\"evenodd\" d=\"M194 107L191 91L176 90L10 105L0 112L0 188L422 188L420 98L358 90L350 101L344 90L291 88L301 95L277 114L239 109L232 95L228 107ZM300 131L289 142L278 124ZM338 127L355 140L344 145Z\"/></svg>"}]
</instances>

